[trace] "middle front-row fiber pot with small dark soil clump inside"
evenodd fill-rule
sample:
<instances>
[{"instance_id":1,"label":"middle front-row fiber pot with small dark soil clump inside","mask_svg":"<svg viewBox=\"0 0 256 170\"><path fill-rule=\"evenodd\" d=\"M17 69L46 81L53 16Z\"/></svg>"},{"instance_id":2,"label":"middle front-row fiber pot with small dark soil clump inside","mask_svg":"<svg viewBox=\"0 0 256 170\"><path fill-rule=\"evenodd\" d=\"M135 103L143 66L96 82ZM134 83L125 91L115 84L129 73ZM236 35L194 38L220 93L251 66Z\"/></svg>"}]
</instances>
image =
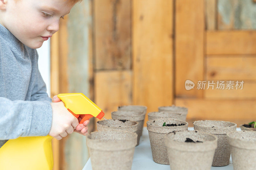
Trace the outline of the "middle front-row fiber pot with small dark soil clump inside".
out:
<instances>
[{"instance_id":1,"label":"middle front-row fiber pot with small dark soil clump inside","mask_svg":"<svg viewBox=\"0 0 256 170\"><path fill-rule=\"evenodd\" d=\"M186 138L195 142L185 142ZM165 144L171 169L210 170L217 137L194 130L174 131L166 135Z\"/></svg>"}]
</instances>

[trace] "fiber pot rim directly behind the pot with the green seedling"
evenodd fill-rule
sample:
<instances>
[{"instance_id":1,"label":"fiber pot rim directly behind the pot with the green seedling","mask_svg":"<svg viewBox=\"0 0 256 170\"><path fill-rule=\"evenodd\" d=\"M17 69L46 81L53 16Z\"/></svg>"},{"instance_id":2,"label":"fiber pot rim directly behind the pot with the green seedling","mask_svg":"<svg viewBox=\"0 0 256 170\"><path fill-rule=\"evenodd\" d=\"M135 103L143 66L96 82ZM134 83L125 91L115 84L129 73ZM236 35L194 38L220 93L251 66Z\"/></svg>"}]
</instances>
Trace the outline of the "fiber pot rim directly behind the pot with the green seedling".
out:
<instances>
[{"instance_id":1,"label":"fiber pot rim directly behind the pot with the green seedling","mask_svg":"<svg viewBox=\"0 0 256 170\"><path fill-rule=\"evenodd\" d=\"M148 113L148 120L156 120L160 118L170 118L170 119L182 119L181 113L171 113L171 112L149 112Z\"/></svg>"}]
</instances>

